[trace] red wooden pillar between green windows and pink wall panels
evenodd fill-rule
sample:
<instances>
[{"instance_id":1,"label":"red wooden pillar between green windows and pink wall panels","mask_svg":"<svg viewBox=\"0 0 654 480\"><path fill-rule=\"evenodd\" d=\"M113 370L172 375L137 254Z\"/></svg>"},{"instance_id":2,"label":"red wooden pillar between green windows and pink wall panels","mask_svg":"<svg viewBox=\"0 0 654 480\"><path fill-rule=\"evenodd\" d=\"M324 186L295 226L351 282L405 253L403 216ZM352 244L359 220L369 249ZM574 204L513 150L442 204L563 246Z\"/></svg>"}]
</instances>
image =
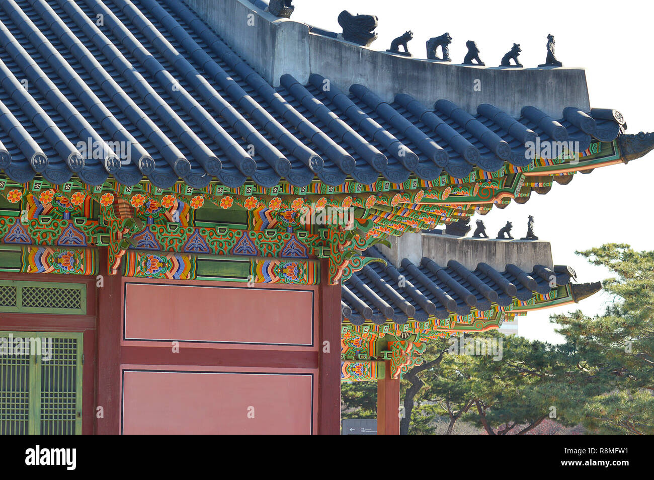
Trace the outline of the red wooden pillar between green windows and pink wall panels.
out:
<instances>
[{"instance_id":1,"label":"red wooden pillar between green windows and pink wall panels","mask_svg":"<svg viewBox=\"0 0 654 480\"><path fill-rule=\"evenodd\" d=\"M95 432L120 433L120 335L122 332L121 276L107 272L107 247L99 254L101 286L97 291L97 402ZM103 418L97 418L102 407Z\"/></svg>"}]
</instances>

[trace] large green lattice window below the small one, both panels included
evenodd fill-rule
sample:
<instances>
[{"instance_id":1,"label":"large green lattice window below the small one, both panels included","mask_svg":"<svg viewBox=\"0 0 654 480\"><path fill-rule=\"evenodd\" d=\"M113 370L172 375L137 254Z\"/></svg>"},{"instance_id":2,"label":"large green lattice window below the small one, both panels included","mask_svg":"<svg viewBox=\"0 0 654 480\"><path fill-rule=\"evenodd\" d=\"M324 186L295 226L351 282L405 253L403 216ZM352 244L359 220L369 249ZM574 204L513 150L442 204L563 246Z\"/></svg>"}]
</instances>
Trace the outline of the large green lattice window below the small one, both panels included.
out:
<instances>
[{"instance_id":1,"label":"large green lattice window below the small one, both panels included","mask_svg":"<svg viewBox=\"0 0 654 480\"><path fill-rule=\"evenodd\" d=\"M82 432L82 351L80 333L0 332L0 435Z\"/></svg>"}]
</instances>

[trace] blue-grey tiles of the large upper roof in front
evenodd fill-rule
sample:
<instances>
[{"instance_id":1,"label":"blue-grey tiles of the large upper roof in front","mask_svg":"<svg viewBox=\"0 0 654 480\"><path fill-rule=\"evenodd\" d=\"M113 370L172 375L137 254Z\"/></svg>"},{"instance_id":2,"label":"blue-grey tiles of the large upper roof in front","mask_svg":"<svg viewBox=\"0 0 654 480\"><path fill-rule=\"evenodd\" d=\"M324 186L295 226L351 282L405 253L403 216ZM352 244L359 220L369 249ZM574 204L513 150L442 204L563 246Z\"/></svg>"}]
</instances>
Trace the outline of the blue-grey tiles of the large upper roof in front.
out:
<instances>
[{"instance_id":1,"label":"blue-grey tiles of the large upper roof in front","mask_svg":"<svg viewBox=\"0 0 654 480\"><path fill-rule=\"evenodd\" d=\"M447 99L387 103L319 75L275 89L179 0L3 0L0 47L0 168L22 183L462 178L525 165L537 136L585 149L622 128L613 111L574 106L555 120L528 106L515 119L487 104L471 115Z\"/></svg>"}]
</instances>

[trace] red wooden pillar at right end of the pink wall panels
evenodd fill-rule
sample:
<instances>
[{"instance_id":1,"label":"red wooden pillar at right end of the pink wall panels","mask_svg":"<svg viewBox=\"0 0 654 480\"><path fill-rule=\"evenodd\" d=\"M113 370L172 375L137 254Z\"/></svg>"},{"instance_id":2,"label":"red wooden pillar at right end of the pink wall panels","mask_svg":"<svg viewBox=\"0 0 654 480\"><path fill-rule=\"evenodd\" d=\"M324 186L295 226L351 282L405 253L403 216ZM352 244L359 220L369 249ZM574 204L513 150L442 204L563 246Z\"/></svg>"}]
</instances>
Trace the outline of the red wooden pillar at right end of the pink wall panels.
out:
<instances>
[{"instance_id":1,"label":"red wooden pillar at right end of the pink wall panels","mask_svg":"<svg viewBox=\"0 0 654 480\"><path fill-rule=\"evenodd\" d=\"M320 262L318 320L318 434L341 432L341 285L329 284L329 262ZM328 343L326 343L328 342Z\"/></svg>"}]
</instances>

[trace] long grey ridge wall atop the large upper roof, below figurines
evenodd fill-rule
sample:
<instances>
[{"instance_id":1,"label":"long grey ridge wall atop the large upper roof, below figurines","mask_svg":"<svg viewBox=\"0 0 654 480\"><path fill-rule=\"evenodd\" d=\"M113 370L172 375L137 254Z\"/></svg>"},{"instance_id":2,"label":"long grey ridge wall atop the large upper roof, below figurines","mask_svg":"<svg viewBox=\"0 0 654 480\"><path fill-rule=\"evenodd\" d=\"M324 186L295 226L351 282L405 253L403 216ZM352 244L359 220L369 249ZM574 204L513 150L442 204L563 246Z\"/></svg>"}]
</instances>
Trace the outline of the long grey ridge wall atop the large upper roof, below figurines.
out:
<instances>
[{"instance_id":1,"label":"long grey ridge wall atop the large upper roof, below figurines","mask_svg":"<svg viewBox=\"0 0 654 480\"><path fill-rule=\"evenodd\" d=\"M428 109L445 98L472 114L479 103L515 117L525 105L553 118L561 118L570 106L590 111L583 69L501 69L405 58L309 33L306 24L278 19L247 0L184 1L274 86L284 73L304 84L318 73L344 92L360 83L385 101L409 94ZM475 80L481 92L474 90Z\"/></svg>"}]
</instances>

